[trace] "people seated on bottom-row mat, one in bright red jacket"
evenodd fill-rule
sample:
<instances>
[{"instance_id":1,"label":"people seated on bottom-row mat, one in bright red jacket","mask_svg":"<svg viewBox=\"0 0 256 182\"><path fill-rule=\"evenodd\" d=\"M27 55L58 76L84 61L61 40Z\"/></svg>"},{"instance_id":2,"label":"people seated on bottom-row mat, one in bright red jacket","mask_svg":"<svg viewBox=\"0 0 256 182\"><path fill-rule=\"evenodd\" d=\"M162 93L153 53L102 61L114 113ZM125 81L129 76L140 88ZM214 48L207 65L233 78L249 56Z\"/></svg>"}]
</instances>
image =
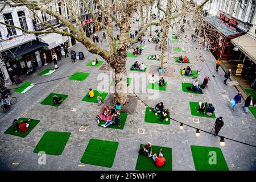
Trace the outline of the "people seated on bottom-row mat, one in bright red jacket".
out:
<instances>
[{"instance_id":1,"label":"people seated on bottom-row mat, one in bright red jacket","mask_svg":"<svg viewBox=\"0 0 256 182\"><path fill-rule=\"evenodd\" d=\"M163 149L160 148L158 155L152 155L152 145L150 142L147 142L146 144L143 144L142 148L139 150L139 154L148 156L148 158L153 160L156 166L163 167L166 159L163 157L162 151Z\"/></svg>"}]
</instances>

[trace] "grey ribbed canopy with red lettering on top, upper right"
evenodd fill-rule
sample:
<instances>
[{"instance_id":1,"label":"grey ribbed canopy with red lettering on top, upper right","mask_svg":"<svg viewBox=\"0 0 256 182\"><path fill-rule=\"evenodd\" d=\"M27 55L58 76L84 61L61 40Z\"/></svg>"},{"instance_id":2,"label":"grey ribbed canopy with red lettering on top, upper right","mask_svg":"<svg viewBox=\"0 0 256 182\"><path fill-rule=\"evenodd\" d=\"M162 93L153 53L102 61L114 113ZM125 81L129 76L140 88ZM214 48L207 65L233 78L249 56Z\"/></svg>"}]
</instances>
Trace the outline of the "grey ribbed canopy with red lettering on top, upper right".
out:
<instances>
[{"instance_id":1,"label":"grey ribbed canopy with red lettering on top, upper right","mask_svg":"<svg viewBox=\"0 0 256 182\"><path fill-rule=\"evenodd\" d=\"M216 28L216 30L218 30L225 37L245 33L245 31L224 22L224 20L221 20L217 16L209 16L205 18L205 20L207 20L209 24Z\"/></svg>"}]
</instances>

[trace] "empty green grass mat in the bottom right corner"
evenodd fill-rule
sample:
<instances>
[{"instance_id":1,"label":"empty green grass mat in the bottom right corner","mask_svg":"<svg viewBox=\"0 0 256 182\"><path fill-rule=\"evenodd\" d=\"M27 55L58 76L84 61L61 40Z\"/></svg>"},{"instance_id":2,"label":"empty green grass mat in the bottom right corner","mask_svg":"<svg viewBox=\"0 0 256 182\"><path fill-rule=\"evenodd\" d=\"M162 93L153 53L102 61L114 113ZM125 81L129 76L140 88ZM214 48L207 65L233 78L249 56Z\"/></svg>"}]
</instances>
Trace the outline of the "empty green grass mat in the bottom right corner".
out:
<instances>
[{"instance_id":1,"label":"empty green grass mat in the bottom right corner","mask_svg":"<svg viewBox=\"0 0 256 182\"><path fill-rule=\"evenodd\" d=\"M191 152L196 171L229 171L220 148L191 146Z\"/></svg>"}]
</instances>

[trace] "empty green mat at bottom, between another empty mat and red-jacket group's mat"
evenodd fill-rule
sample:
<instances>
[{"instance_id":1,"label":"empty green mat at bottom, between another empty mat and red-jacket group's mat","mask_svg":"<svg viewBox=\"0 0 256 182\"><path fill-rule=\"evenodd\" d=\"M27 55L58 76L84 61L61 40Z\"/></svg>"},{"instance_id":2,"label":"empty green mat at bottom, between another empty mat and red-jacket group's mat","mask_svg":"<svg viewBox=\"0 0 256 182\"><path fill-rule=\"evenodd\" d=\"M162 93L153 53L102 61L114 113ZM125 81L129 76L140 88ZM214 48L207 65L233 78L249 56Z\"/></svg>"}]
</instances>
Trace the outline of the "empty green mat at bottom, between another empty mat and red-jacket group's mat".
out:
<instances>
[{"instance_id":1,"label":"empty green mat at bottom, between another empty mat and red-jacket group's mat","mask_svg":"<svg viewBox=\"0 0 256 182\"><path fill-rule=\"evenodd\" d=\"M110 168L113 166L117 147L118 142L90 139L80 162Z\"/></svg>"}]
</instances>

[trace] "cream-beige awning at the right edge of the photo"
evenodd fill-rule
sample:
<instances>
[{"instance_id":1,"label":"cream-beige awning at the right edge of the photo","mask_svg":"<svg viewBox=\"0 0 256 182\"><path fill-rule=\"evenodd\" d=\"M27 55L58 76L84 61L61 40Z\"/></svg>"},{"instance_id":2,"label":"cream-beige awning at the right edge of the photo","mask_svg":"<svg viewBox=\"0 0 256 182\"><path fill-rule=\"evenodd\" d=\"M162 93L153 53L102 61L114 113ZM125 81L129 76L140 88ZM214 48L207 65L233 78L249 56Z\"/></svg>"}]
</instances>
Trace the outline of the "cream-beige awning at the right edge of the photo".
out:
<instances>
[{"instance_id":1,"label":"cream-beige awning at the right edge of the photo","mask_svg":"<svg viewBox=\"0 0 256 182\"><path fill-rule=\"evenodd\" d=\"M231 42L237 45L241 52L254 61L256 64L256 40L249 35L242 35L232 39Z\"/></svg>"}]
</instances>

